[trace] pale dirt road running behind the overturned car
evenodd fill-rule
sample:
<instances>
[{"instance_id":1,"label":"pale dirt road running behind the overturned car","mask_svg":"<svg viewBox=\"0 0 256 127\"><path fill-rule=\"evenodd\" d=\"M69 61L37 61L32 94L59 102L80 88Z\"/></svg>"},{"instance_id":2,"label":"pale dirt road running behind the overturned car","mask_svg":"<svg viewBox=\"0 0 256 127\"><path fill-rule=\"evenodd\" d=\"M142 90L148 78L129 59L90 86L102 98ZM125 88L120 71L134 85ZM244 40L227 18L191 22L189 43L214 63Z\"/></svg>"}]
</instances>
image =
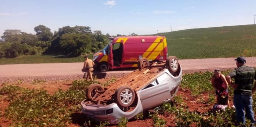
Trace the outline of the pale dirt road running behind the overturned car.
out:
<instances>
[{"instance_id":1,"label":"pale dirt road running behind the overturned car","mask_svg":"<svg viewBox=\"0 0 256 127\"><path fill-rule=\"evenodd\" d=\"M194 70L231 69L235 68L235 58L209 59L180 59L179 63L186 72ZM70 80L83 77L81 69L84 63L51 63L51 64L14 64L0 65L0 83L17 81L18 79L31 81L35 78L43 80ZM247 65L256 67L256 57L247 57ZM136 68L135 68L136 69ZM114 75L124 76L133 69L113 70L106 73L94 73L100 77Z\"/></svg>"}]
</instances>

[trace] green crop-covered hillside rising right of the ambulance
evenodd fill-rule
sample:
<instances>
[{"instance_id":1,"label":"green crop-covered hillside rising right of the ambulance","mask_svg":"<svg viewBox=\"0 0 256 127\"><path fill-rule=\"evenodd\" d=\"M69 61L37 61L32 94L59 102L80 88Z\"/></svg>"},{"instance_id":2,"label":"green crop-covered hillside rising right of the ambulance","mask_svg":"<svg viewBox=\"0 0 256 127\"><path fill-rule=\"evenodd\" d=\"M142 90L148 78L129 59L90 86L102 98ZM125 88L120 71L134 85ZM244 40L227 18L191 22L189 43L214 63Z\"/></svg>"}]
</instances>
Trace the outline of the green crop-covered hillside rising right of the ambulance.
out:
<instances>
[{"instance_id":1,"label":"green crop-covered hillside rising right of the ambulance","mask_svg":"<svg viewBox=\"0 0 256 127\"><path fill-rule=\"evenodd\" d=\"M225 26L159 33L179 59L256 56L256 26Z\"/></svg>"}]
</instances>

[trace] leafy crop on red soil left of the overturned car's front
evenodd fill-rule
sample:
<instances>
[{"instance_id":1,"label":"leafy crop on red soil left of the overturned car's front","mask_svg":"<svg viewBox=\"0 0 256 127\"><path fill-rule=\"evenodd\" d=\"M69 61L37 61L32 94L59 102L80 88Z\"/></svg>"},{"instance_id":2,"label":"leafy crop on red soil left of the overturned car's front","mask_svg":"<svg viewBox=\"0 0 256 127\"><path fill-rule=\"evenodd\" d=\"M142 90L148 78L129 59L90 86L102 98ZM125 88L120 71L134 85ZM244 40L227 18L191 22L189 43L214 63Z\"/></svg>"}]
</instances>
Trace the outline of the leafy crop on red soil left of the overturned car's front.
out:
<instances>
[{"instance_id":1,"label":"leafy crop on red soil left of the overturned car's front","mask_svg":"<svg viewBox=\"0 0 256 127\"><path fill-rule=\"evenodd\" d=\"M76 82L74 86L87 86L87 82ZM14 127L28 127L45 125L51 127L66 127L70 122L70 115L80 111L79 104L85 98L83 89L74 87L67 91L56 91L49 95L44 90L29 90L18 86L6 86L0 94L7 95L10 101L4 116L13 119Z\"/></svg>"}]
</instances>

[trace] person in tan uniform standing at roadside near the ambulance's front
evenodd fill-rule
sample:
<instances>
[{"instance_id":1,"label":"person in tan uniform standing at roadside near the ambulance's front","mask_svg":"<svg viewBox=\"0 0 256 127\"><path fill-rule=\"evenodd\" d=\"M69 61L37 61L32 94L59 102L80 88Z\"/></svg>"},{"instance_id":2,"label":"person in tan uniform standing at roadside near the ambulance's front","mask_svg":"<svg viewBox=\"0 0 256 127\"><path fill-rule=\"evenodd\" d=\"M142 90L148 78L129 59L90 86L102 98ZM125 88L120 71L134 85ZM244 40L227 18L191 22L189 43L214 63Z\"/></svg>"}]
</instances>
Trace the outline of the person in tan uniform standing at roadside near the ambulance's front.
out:
<instances>
[{"instance_id":1,"label":"person in tan uniform standing at roadside near the ambulance's front","mask_svg":"<svg viewBox=\"0 0 256 127\"><path fill-rule=\"evenodd\" d=\"M91 81L93 81L93 78L92 78L93 66L94 66L94 62L92 61L92 59L89 59L88 56L85 56L85 64L82 69L82 72L85 72L85 69L87 70L86 81L88 80L89 76ZM85 77L85 74L84 74L84 77Z\"/></svg>"}]
</instances>

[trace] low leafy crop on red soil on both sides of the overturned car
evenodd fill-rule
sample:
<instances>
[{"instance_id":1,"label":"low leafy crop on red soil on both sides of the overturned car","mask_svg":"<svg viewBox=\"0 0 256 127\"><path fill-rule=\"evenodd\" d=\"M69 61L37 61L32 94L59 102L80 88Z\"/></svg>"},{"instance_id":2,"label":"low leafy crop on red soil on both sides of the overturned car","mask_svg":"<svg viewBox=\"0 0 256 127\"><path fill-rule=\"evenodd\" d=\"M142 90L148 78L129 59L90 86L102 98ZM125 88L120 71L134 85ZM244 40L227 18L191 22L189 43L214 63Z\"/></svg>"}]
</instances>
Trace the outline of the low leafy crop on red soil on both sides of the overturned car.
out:
<instances>
[{"instance_id":1,"label":"low leafy crop on red soil on both sides of the overturned car","mask_svg":"<svg viewBox=\"0 0 256 127\"><path fill-rule=\"evenodd\" d=\"M223 74L229 73L223 71ZM211 109L214 105L214 89L210 83L212 72L185 74L181 83L180 91L191 92L196 100L196 104L207 104ZM114 82L114 78L108 83ZM45 90L31 90L18 86L7 85L0 90L1 98L10 102L10 105L5 109L3 117L12 119L13 127L67 127L68 124L74 122L74 113L81 113L80 103L85 99L85 88L91 83L84 80L74 80L72 87L69 90L63 91L59 89L54 94L50 95ZM198 93L196 93L196 91ZM229 100L233 100L233 88L229 88ZM201 94L209 94L208 100L202 100ZM253 96L256 99L256 95ZM187 100L186 96L176 95L172 103L165 103L158 107L156 114L150 114L146 117L142 112L137 114L135 119L152 119L153 127L165 127L167 122L159 117L173 116L173 121L176 127L235 127L235 109L227 108L222 112L213 112L212 110L198 112L190 110L190 107L184 103ZM253 107L256 112L256 107ZM80 116L81 117L81 116ZM81 118L85 119L85 118ZM169 118L168 118L169 119ZM118 127L126 127L128 120L120 118ZM247 125L250 124L246 121ZM84 127L92 125L91 121L84 121ZM95 124L95 123L94 123ZM104 127L108 122L97 123L97 127Z\"/></svg>"}]
</instances>

